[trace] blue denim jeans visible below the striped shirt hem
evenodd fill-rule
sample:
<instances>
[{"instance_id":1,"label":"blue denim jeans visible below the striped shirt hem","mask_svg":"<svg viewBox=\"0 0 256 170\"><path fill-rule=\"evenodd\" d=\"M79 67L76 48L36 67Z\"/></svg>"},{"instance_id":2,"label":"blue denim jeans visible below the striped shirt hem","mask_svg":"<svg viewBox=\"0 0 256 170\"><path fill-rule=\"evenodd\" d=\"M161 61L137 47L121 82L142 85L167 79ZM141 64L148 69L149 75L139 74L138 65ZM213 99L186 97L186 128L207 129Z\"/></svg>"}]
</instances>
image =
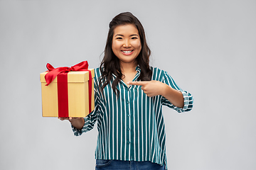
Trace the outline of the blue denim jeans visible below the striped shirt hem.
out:
<instances>
[{"instance_id":1,"label":"blue denim jeans visible below the striped shirt hem","mask_svg":"<svg viewBox=\"0 0 256 170\"><path fill-rule=\"evenodd\" d=\"M96 159L95 170L164 170L164 166L152 162L134 162Z\"/></svg>"}]
</instances>

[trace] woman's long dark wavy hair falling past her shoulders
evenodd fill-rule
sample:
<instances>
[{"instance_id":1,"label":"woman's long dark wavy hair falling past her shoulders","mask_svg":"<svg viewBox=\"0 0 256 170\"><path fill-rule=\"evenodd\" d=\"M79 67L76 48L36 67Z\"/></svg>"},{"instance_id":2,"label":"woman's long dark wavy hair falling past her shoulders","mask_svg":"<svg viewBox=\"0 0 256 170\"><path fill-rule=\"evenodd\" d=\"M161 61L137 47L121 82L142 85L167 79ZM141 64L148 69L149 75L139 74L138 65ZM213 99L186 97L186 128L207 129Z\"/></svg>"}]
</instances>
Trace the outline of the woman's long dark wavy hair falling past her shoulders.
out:
<instances>
[{"instance_id":1,"label":"woman's long dark wavy hair falling past her shoulders","mask_svg":"<svg viewBox=\"0 0 256 170\"><path fill-rule=\"evenodd\" d=\"M105 86L110 83L110 80L112 79L112 74L114 74L117 76L117 78L115 78L112 83L112 89L115 94L119 94L117 84L122 79L123 74L120 68L119 59L114 55L114 52L112 51L112 38L114 35L114 28L126 24L133 24L137 27L139 31L139 38L142 43L142 50L139 52L139 55L136 58L137 64L139 64L139 67L141 69L141 73L138 79L141 81L151 80L152 71L149 68L149 56L151 54L151 51L146 44L146 36L142 23L140 23L138 18L136 18L130 12L119 13L119 15L115 16L110 22L110 30L107 35L105 54L100 64L100 72L102 74L100 77L101 92L103 91Z\"/></svg>"}]
</instances>

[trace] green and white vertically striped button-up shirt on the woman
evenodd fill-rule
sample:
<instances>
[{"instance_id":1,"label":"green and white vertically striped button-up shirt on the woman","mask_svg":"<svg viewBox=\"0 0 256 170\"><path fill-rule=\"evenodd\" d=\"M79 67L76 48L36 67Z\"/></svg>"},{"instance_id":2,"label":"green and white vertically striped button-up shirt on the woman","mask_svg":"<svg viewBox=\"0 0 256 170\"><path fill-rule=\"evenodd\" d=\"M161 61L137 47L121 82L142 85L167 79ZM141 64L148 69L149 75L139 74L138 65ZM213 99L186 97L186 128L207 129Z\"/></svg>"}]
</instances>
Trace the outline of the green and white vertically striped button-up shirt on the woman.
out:
<instances>
[{"instance_id":1,"label":"green and white vertically striped button-up shirt on the woman","mask_svg":"<svg viewBox=\"0 0 256 170\"><path fill-rule=\"evenodd\" d=\"M137 81L140 68L133 81ZM75 135L92 130L97 120L97 147L95 159L117 159L123 161L150 161L166 164L166 134L162 106L178 111L191 111L193 97L174 82L167 72L153 68L152 80L161 81L181 91L183 108L171 104L164 96L148 97L141 86L127 86L124 81L117 84L119 96L114 94L111 84L116 78L113 74L111 84L103 89L105 98L99 91L100 69L95 69L95 110L85 118L82 130L74 127ZM167 166L166 166L167 167Z\"/></svg>"}]
</instances>

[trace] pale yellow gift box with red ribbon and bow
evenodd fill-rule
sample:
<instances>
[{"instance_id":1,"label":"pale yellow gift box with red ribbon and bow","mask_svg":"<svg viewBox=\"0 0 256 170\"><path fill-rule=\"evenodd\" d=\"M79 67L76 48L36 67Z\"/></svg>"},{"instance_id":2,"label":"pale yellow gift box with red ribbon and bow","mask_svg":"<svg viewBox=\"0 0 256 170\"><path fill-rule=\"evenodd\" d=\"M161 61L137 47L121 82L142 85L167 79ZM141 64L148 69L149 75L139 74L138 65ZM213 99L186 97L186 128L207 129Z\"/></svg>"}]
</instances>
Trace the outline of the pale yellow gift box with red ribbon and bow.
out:
<instances>
[{"instance_id":1,"label":"pale yellow gift box with red ribbon and bow","mask_svg":"<svg viewBox=\"0 0 256 170\"><path fill-rule=\"evenodd\" d=\"M49 72L40 74L43 117L84 118L94 110L95 72L81 63L56 69L48 64Z\"/></svg>"}]
</instances>

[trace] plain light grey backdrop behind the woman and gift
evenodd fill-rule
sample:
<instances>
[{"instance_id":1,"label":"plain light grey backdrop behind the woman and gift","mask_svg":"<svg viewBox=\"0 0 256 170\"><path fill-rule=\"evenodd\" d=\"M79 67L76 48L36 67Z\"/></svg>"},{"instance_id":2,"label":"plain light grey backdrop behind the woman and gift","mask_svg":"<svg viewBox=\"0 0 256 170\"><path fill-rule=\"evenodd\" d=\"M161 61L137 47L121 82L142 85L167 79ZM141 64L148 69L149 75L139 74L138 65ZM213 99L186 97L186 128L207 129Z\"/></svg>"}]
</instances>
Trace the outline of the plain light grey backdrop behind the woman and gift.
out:
<instances>
[{"instance_id":1,"label":"plain light grey backdrop behind the woman and gift","mask_svg":"<svg viewBox=\"0 0 256 170\"><path fill-rule=\"evenodd\" d=\"M0 1L0 169L94 169L97 128L41 116L46 63L98 67L108 23L131 11L151 65L194 96L164 108L169 169L256 169L255 0Z\"/></svg>"}]
</instances>

